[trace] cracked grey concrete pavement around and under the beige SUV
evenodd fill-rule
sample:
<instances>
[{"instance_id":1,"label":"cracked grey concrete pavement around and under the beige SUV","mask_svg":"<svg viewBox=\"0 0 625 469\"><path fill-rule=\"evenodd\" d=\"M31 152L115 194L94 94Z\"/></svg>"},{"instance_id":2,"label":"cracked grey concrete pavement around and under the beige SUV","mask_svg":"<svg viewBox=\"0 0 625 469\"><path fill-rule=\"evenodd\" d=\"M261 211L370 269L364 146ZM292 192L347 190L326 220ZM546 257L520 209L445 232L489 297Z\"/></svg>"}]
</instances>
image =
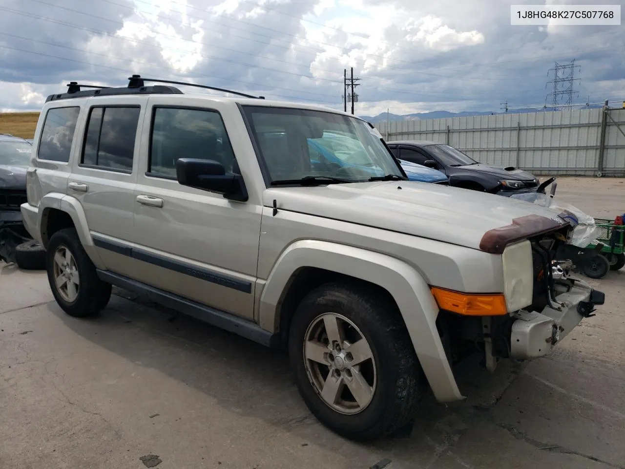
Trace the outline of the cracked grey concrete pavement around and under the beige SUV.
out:
<instances>
[{"instance_id":1,"label":"cracked grey concrete pavement around and under the beige SUV","mask_svg":"<svg viewBox=\"0 0 625 469\"><path fill-rule=\"evenodd\" d=\"M74 319L46 273L0 264L0 468L623 469L625 269L589 281L606 305L551 355L466 363L466 402L426 396L410 435L359 445L310 415L281 353L123 291Z\"/></svg>"}]
</instances>

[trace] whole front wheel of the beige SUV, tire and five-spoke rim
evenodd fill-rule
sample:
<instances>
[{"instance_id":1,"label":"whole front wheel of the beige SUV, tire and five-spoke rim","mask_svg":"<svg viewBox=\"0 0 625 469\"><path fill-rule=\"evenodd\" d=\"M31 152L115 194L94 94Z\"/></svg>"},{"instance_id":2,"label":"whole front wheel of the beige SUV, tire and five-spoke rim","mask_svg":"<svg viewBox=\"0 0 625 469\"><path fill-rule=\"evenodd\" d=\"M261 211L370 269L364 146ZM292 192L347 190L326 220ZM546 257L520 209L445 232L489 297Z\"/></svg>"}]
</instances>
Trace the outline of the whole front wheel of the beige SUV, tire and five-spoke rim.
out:
<instances>
[{"instance_id":1,"label":"whole front wheel of the beige SUV, tire and five-spoke rim","mask_svg":"<svg viewBox=\"0 0 625 469\"><path fill-rule=\"evenodd\" d=\"M366 441L416 415L422 372L396 305L384 295L333 283L311 291L289 333L297 388L317 420Z\"/></svg>"}]
</instances>

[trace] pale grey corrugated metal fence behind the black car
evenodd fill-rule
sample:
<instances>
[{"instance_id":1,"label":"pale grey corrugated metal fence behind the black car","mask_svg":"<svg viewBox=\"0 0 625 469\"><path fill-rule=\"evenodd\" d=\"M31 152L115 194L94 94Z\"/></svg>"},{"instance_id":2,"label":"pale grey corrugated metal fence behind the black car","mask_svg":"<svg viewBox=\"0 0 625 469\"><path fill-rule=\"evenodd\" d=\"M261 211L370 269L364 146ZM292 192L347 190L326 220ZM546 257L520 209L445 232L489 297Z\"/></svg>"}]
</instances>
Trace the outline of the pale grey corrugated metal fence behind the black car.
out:
<instances>
[{"instance_id":1,"label":"pale grey corrugated metal fence behind the black car","mask_svg":"<svg viewBox=\"0 0 625 469\"><path fill-rule=\"evenodd\" d=\"M625 109L609 116L625 133ZM602 109L391 121L378 125L388 140L448 143L481 163L536 174L594 175L599 164ZM520 129L519 129L520 127ZM387 133L388 132L388 133ZM607 118L603 173L625 176L625 136Z\"/></svg>"}]
</instances>

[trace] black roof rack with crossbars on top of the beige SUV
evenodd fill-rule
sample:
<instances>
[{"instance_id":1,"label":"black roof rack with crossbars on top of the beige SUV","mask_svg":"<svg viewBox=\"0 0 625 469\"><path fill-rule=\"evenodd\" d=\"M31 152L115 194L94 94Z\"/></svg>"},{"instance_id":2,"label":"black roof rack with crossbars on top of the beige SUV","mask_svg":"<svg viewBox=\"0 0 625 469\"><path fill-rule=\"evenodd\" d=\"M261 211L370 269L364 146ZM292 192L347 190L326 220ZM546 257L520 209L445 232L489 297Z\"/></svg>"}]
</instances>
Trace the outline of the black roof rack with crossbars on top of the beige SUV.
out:
<instances>
[{"instance_id":1,"label":"black roof rack with crossbars on top of the beige SUV","mask_svg":"<svg viewBox=\"0 0 625 469\"><path fill-rule=\"evenodd\" d=\"M61 94L51 94L46 98L48 101L57 101L58 99L71 98L88 98L90 96L116 96L120 94L184 94L174 86L154 85L146 86L145 82L165 83L165 84L182 84L184 86L194 86L195 88L214 89L223 91L224 93L238 94L244 98L265 99L264 96L252 96L251 94L239 93L230 89L216 88L205 84L184 83L183 81L169 81L153 78L141 78L141 75L133 75L128 79L128 86L111 88L110 86L99 86L94 84L79 84L77 81L69 82L68 91ZM90 88L90 89L83 89Z\"/></svg>"}]
</instances>

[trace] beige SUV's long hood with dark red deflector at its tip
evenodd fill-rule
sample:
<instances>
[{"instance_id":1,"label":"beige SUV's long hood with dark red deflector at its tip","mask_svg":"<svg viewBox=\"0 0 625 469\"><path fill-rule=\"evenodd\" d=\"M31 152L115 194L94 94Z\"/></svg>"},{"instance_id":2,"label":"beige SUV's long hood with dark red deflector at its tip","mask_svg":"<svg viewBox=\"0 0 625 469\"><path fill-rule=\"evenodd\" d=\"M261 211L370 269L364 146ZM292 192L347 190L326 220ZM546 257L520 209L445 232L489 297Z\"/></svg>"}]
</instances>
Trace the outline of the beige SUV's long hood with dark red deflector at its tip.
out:
<instances>
[{"instance_id":1,"label":"beige SUV's long hood with dark red deflector at its tip","mask_svg":"<svg viewBox=\"0 0 625 469\"><path fill-rule=\"evenodd\" d=\"M512 240L566 224L536 204L412 181L267 189L264 205L271 207L274 199L278 213L297 211L492 253Z\"/></svg>"}]
</instances>

